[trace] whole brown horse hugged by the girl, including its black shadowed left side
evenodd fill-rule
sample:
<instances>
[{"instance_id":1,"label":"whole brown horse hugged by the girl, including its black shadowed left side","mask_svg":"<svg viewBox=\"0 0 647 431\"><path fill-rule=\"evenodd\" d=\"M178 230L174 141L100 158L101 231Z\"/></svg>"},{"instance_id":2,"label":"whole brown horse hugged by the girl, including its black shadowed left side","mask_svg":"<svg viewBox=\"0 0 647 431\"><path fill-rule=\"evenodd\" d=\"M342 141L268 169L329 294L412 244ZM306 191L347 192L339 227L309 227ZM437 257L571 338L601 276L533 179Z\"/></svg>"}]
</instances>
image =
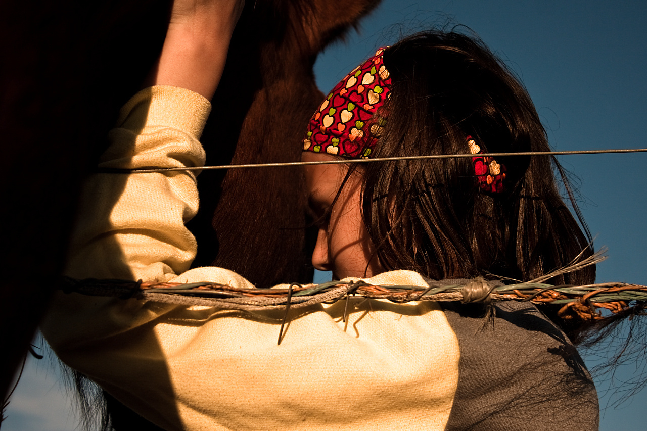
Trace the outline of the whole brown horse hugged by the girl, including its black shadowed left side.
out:
<instances>
[{"instance_id":1,"label":"whole brown horse hugged by the girl, including its black shadowed left side","mask_svg":"<svg viewBox=\"0 0 647 431\"><path fill-rule=\"evenodd\" d=\"M322 99L313 76L318 52L377 3L248 1L203 135L208 164L298 160L305 124ZM15 163L7 178L22 181L3 188L11 211L3 211L1 226L13 250L4 273L16 274L0 290L6 393L50 295L39 280L63 267L78 184L155 61L167 17L152 0L3 2L0 17L0 133L6 160ZM190 223L200 245L195 266L226 267L258 287L311 279L314 238L304 229L298 168L205 171L199 190L201 211ZM27 310L16 307L25 295ZM108 406L115 429L157 429L110 397Z\"/></svg>"}]
</instances>

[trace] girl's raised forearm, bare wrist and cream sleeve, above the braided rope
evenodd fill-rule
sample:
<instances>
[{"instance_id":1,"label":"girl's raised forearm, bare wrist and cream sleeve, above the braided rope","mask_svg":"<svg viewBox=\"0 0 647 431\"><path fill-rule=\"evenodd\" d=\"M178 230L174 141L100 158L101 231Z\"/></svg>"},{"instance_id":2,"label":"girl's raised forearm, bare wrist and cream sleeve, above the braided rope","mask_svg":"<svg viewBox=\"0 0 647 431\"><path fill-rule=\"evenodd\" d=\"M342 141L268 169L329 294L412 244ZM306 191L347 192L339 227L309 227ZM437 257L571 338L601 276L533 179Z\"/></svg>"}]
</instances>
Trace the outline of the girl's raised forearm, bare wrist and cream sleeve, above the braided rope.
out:
<instances>
[{"instance_id":1,"label":"girl's raised forearm, bare wrist and cream sleeve, above the braided rope","mask_svg":"<svg viewBox=\"0 0 647 431\"><path fill-rule=\"evenodd\" d=\"M120 112L100 167L201 166L199 142L225 67L242 2L176 0L146 89ZM149 87L149 85L155 85ZM85 181L67 269L74 278L168 280L186 271L197 246L193 173L93 175Z\"/></svg>"}]
</instances>

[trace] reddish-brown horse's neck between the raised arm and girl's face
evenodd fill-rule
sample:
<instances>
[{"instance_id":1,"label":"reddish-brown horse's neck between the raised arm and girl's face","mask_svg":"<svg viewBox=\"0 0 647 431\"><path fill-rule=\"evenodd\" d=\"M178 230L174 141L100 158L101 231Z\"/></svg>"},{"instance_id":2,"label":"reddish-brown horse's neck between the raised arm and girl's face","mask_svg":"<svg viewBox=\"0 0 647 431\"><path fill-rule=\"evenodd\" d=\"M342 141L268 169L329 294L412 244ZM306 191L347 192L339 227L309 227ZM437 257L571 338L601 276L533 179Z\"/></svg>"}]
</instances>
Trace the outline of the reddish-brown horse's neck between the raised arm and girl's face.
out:
<instances>
[{"instance_id":1,"label":"reddish-brown horse's neck between the raised arm and girl's face","mask_svg":"<svg viewBox=\"0 0 647 431\"><path fill-rule=\"evenodd\" d=\"M305 125L323 100L314 60L375 3L248 4L204 133L208 163L299 160ZM224 178L203 173L199 188L203 207L190 224L200 245L195 265L232 269L258 287L312 279L314 238L304 235L299 168L231 170Z\"/></svg>"}]
</instances>

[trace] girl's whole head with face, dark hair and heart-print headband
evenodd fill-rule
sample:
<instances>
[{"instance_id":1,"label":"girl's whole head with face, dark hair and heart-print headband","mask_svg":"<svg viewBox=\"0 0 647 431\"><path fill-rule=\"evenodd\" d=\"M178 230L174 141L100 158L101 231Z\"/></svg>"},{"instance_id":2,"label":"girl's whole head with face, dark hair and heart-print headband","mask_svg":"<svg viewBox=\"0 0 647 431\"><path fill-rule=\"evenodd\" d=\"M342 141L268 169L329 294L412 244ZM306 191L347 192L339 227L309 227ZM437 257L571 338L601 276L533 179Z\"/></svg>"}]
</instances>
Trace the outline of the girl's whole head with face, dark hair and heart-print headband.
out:
<instances>
[{"instance_id":1,"label":"girl's whole head with face, dark hair and heart-print headband","mask_svg":"<svg viewBox=\"0 0 647 431\"><path fill-rule=\"evenodd\" d=\"M333 158L329 154L335 152L371 158L470 153L470 149L474 153L474 144L485 153L549 151L527 92L481 41L454 32L426 32L400 41L384 50L380 61L372 61L380 88L371 89L372 94L367 88L363 92L371 97L369 102L376 101L375 94L381 95L383 105L374 107L375 115L368 120L359 118L359 123L355 118L347 120L347 113L343 118L344 124L355 127L345 136L354 134L357 148L350 146L345 151L340 144L343 137L338 135L343 127L324 119L341 119L341 111L352 111L337 106L344 96L350 97L348 92L333 94L313 116L304 141L310 151L304 152L304 159ZM344 78L336 93L355 89L348 85L349 80L353 82L350 77L363 79L364 65ZM364 80L364 87L375 85L370 80ZM320 135L329 137L327 145L318 141ZM472 145L468 137L473 137ZM331 143L344 151L328 149ZM327 149L328 154L317 153L317 149ZM489 160L486 154L399 160L360 168L333 167L327 173L323 168L309 168L311 195L320 190L324 175L334 177L328 182L337 184L332 201L315 202L322 214L333 210L328 212L329 225L323 223L320 229L313 263L332 269L337 276L411 269L436 279L490 272L529 280L566 265L582 250L586 250L585 257L591 254L589 237L558 192L554 170L561 174L562 169L556 160L547 156L496 159ZM490 171L481 171L483 166ZM351 214L363 223L357 226L359 233L342 244L334 223L340 215ZM338 245L333 247L334 243ZM353 247L363 250L351 257L358 263L361 260L364 267L359 272L338 271L342 263L338 249ZM324 254L327 261L322 265L317 260ZM595 268L589 267L553 282L588 283L593 278Z\"/></svg>"}]
</instances>

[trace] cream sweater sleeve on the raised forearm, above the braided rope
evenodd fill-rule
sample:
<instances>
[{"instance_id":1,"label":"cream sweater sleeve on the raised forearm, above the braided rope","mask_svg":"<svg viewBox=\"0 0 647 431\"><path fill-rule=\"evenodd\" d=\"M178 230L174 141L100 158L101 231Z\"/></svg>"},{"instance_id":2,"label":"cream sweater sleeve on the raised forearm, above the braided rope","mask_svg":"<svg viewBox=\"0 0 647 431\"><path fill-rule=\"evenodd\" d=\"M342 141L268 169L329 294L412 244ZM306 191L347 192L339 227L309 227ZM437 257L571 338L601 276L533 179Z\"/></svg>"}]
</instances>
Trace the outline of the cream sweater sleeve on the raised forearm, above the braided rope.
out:
<instances>
[{"instance_id":1,"label":"cream sweater sleeve on the raised forearm, above the braided rope","mask_svg":"<svg viewBox=\"0 0 647 431\"><path fill-rule=\"evenodd\" d=\"M203 166L199 142L211 105L177 87L140 91L122 108L100 168ZM85 181L67 275L167 281L189 268L197 246L193 172L96 174Z\"/></svg>"}]
</instances>

